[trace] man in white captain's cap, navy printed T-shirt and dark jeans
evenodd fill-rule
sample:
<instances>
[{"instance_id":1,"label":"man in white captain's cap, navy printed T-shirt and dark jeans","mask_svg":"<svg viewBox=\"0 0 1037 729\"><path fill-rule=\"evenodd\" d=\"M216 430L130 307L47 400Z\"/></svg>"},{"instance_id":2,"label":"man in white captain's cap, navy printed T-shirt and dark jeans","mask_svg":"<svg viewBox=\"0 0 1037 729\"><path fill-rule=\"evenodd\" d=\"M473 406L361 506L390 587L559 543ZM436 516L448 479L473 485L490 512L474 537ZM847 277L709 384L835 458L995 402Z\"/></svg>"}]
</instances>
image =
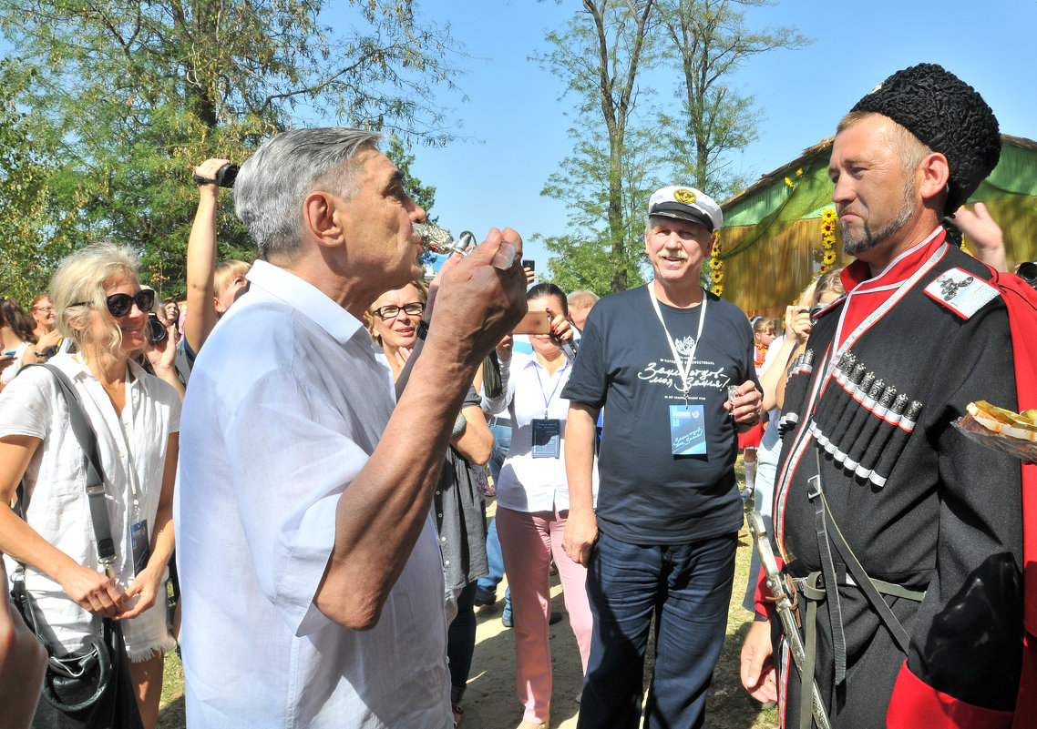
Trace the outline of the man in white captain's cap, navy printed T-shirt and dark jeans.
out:
<instances>
[{"instance_id":1,"label":"man in white captain's cap, navy printed T-shirt and dark jeans","mask_svg":"<svg viewBox=\"0 0 1037 729\"><path fill-rule=\"evenodd\" d=\"M693 187L651 196L655 278L591 310L562 392L571 402L563 546L588 567L594 614L581 729L639 726L642 670L630 669L643 669L652 619L645 725L701 726L742 518L737 433L759 420L760 403L749 320L700 285L723 221ZM595 514L594 427L606 403Z\"/></svg>"}]
</instances>

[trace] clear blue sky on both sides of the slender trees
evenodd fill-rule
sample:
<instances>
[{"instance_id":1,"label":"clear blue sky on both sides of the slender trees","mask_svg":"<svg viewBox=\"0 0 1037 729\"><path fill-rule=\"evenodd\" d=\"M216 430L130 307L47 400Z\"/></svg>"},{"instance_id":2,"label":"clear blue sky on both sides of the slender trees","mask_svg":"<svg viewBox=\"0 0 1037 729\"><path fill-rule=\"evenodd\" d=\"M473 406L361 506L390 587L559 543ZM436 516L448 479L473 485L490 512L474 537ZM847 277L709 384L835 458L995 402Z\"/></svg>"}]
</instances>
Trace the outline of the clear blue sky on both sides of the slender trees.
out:
<instances>
[{"instance_id":1,"label":"clear blue sky on both sides of the slender trees","mask_svg":"<svg viewBox=\"0 0 1037 729\"><path fill-rule=\"evenodd\" d=\"M529 240L565 232L564 205L539 193L571 150L565 112L573 101L559 100L561 82L527 57L545 50L545 31L578 7L574 0L421 0L420 12L449 21L471 56L459 80L470 100L443 96L469 139L413 150L414 173L437 186L433 211L455 234L471 230L481 240L491 227L510 226ZM1003 133L1037 138L1034 0L784 0L747 13L748 27L767 25L793 25L815 40L750 59L733 80L756 96L765 119L760 139L732 161L753 180L834 134L839 117L890 74L923 61L975 86ZM535 243L526 257L545 268L548 254Z\"/></svg>"}]
</instances>

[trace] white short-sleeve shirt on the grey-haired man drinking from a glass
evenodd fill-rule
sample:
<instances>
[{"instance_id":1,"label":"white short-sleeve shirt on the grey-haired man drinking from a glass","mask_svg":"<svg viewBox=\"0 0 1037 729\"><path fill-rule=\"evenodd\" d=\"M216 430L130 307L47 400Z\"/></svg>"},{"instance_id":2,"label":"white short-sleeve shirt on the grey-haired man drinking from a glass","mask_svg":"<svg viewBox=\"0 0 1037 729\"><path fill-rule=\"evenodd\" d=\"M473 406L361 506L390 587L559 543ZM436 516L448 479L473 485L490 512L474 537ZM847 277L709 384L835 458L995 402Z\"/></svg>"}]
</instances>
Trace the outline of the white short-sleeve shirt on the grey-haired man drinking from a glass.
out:
<instances>
[{"instance_id":1,"label":"white short-sleeve shirt on the grey-haired man drinking from a glass","mask_svg":"<svg viewBox=\"0 0 1037 729\"><path fill-rule=\"evenodd\" d=\"M188 726L452 725L431 522L379 623L313 599L394 399L361 322L258 261L191 373L174 506Z\"/></svg>"}]
</instances>

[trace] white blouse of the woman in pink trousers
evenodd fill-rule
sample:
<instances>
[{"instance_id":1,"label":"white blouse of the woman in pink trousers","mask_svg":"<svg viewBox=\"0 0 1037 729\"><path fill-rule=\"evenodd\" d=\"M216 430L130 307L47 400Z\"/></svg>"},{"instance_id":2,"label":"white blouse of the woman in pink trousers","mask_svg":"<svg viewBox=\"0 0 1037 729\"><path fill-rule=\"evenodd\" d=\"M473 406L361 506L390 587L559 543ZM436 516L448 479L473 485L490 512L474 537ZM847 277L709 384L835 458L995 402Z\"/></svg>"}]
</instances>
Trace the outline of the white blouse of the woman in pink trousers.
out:
<instances>
[{"instance_id":1,"label":"white blouse of the woman in pink trousers","mask_svg":"<svg viewBox=\"0 0 1037 729\"><path fill-rule=\"evenodd\" d=\"M569 507L565 476L565 420L569 401L561 397L572 372L566 361L553 375L535 356L514 352L508 367L506 403L511 414L511 448L497 479L497 503L515 512L564 512ZM533 420L560 420L558 458L533 458ZM597 501L597 457L592 470Z\"/></svg>"}]
</instances>

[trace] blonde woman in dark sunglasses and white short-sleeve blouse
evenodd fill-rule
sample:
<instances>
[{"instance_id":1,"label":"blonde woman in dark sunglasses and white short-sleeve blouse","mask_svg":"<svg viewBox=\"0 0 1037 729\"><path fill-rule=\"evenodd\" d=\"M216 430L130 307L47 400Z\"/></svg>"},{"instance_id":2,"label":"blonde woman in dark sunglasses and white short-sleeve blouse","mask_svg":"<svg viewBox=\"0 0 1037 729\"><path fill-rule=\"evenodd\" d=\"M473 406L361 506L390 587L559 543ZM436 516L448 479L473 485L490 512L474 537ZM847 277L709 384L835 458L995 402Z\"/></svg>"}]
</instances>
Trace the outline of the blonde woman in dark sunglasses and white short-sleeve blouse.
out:
<instances>
[{"instance_id":1,"label":"blonde woman in dark sunglasses and white short-sleeve blouse","mask_svg":"<svg viewBox=\"0 0 1037 729\"><path fill-rule=\"evenodd\" d=\"M102 244L73 254L54 275L51 295L57 327L74 344L50 363L73 382L96 437L114 578L99 563L68 407L45 368L26 370L0 393L0 552L26 565L25 587L52 655L87 647L102 617L121 621L137 703L150 729L164 654L175 646L166 628L165 572L173 550L180 401L132 358L146 346L155 292L141 289L128 249ZM20 482L24 521L8 506Z\"/></svg>"}]
</instances>

